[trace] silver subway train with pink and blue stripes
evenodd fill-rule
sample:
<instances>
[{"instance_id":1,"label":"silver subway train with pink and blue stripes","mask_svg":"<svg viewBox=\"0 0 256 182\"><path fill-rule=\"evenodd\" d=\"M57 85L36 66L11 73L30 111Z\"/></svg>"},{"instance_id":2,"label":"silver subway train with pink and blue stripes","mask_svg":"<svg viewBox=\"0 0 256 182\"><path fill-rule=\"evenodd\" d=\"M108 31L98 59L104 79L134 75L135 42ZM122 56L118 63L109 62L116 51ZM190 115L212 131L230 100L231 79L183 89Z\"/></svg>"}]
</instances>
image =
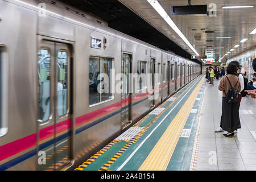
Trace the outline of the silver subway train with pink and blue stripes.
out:
<instances>
[{"instance_id":1,"label":"silver subway train with pink and blue stripes","mask_svg":"<svg viewBox=\"0 0 256 182\"><path fill-rule=\"evenodd\" d=\"M0 69L0 170L75 169L201 74L200 64L92 15L31 0L0 0ZM111 70L159 81L139 78L137 93L112 93ZM110 92L97 92L100 73Z\"/></svg>"}]
</instances>

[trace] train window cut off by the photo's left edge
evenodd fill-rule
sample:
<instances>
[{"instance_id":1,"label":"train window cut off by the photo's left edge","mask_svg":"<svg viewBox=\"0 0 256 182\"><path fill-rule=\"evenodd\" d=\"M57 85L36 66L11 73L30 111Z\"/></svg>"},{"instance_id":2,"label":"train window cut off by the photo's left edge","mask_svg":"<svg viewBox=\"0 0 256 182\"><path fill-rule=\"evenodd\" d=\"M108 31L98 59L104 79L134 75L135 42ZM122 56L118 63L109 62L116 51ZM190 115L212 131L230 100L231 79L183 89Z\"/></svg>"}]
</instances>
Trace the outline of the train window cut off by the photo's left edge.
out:
<instances>
[{"instance_id":1,"label":"train window cut off by the photo's left edge","mask_svg":"<svg viewBox=\"0 0 256 182\"><path fill-rule=\"evenodd\" d=\"M5 47L0 45L0 137L7 134L8 124L7 124L7 79L8 79L8 69L7 61L5 61L6 51Z\"/></svg>"}]
</instances>

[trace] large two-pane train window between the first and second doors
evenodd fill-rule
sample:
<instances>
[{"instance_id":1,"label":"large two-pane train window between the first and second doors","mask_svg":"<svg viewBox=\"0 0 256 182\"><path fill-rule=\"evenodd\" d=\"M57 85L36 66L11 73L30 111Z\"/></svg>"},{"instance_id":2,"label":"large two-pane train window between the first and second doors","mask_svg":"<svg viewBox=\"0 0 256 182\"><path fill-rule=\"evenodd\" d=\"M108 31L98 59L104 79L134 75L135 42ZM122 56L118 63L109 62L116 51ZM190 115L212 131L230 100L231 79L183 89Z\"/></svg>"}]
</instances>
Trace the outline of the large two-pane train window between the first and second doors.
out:
<instances>
[{"instance_id":1,"label":"large two-pane train window between the first and second doors","mask_svg":"<svg viewBox=\"0 0 256 182\"><path fill-rule=\"evenodd\" d=\"M89 60L89 105L110 100L110 69L112 69L112 59L106 57L90 57ZM105 73L106 77L98 80L98 75ZM105 80L108 79L108 80ZM98 86L101 83L100 86Z\"/></svg>"}]
</instances>

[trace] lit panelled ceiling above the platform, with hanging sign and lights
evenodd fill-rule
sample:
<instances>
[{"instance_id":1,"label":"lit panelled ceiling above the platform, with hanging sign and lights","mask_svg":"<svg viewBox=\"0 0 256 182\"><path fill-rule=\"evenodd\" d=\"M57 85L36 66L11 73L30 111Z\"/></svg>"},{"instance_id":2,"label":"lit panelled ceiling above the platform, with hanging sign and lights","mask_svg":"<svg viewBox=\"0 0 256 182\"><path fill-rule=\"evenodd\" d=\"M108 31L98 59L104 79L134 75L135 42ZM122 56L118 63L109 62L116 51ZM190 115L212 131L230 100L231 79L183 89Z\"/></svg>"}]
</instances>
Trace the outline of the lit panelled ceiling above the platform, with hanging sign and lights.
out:
<instances>
[{"instance_id":1,"label":"lit panelled ceiling above the platform, with hanging sign and lights","mask_svg":"<svg viewBox=\"0 0 256 182\"><path fill-rule=\"evenodd\" d=\"M195 53L184 43L184 41L172 30L172 28L164 21L164 19L156 12L156 10L146 0L119 0L129 7L146 22L150 23L157 30L166 35L170 40L175 42L181 48L185 49L192 55ZM154 0L153 0L154 1ZM255 0L192 0L191 5L208 5L215 3L217 7L216 16L206 15L170 15L171 6L186 6L187 0L158 0L166 13L183 32L188 41L195 47L200 55L214 55L218 60L225 53L229 52L237 44L240 47L234 48L224 59L229 59L239 53L256 46L256 34L249 35L256 28L256 1ZM222 9L222 6L241 6L254 5L254 7L246 9ZM213 33L205 33L205 31L214 31ZM231 39L216 39L217 37L231 37ZM197 41L195 41L197 38ZM240 43L243 38L248 38L245 43ZM201 39L201 40L200 40ZM208 46L208 47L207 47ZM223 47L223 49L214 49L214 47Z\"/></svg>"}]
</instances>

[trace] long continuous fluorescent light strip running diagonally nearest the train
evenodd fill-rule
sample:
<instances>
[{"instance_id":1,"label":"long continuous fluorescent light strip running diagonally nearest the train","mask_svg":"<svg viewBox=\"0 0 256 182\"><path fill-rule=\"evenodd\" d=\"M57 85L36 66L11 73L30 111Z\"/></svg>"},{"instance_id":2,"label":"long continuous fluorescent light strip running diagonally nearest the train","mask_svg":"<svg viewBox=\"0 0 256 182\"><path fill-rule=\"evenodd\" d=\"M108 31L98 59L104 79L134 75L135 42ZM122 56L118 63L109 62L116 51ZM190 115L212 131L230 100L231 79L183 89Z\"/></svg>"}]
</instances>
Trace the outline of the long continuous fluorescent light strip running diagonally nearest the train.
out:
<instances>
[{"instance_id":1,"label":"long continuous fluorescent light strip running diagonally nearest the train","mask_svg":"<svg viewBox=\"0 0 256 182\"><path fill-rule=\"evenodd\" d=\"M152 1L147 0L148 3L158 12L160 16L169 24L169 26L177 33L177 35L180 36L180 38L188 45L189 48L192 49L193 52L196 53L197 56L199 56L199 53L196 51L196 49L189 43L188 39L185 38L183 33L179 30L179 28L176 26L174 21L170 18L170 16L166 13L166 11L163 9L163 7L159 4L158 1Z\"/></svg>"}]
</instances>

